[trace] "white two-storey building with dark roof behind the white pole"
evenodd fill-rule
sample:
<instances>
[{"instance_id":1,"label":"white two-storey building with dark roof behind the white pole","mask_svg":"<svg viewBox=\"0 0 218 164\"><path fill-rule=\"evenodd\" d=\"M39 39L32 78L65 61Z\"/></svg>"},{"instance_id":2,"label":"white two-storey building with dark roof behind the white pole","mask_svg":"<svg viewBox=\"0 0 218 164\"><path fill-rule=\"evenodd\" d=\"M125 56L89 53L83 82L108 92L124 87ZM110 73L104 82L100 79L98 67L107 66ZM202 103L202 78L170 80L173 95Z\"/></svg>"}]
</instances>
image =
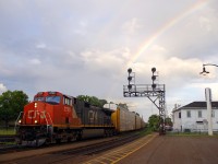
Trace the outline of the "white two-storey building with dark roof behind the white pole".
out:
<instances>
[{"instance_id":1,"label":"white two-storey building with dark roof behind the white pole","mask_svg":"<svg viewBox=\"0 0 218 164\"><path fill-rule=\"evenodd\" d=\"M173 129L183 132L208 131L206 102L192 102L172 110ZM213 131L218 131L218 102L211 102Z\"/></svg>"}]
</instances>

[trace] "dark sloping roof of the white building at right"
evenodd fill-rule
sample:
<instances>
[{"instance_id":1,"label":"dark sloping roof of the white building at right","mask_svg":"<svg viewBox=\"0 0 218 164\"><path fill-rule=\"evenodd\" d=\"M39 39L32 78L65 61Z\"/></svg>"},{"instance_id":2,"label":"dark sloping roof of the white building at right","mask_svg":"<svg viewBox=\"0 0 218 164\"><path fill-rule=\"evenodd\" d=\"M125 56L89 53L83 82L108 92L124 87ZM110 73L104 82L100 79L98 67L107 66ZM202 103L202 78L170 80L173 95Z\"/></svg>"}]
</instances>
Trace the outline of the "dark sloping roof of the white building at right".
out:
<instances>
[{"instance_id":1,"label":"dark sloping roof of the white building at right","mask_svg":"<svg viewBox=\"0 0 218 164\"><path fill-rule=\"evenodd\" d=\"M206 108L206 107L207 107L206 102L192 102L192 103L184 105L173 112L178 112L178 110L186 109L186 108L199 109L199 108ZM218 108L218 102L211 102L211 108Z\"/></svg>"}]
</instances>

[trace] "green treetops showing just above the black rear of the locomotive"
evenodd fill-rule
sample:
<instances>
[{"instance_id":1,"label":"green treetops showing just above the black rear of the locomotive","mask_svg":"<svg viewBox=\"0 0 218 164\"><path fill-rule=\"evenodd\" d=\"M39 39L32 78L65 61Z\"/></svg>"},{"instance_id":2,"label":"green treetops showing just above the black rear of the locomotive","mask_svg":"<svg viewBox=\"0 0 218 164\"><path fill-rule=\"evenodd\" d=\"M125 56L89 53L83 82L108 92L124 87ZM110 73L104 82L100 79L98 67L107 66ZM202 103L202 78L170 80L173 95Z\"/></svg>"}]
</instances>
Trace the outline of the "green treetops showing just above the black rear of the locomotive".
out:
<instances>
[{"instance_id":1,"label":"green treetops showing just above the black rear of the locomotive","mask_svg":"<svg viewBox=\"0 0 218 164\"><path fill-rule=\"evenodd\" d=\"M96 96L78 95L76 98L98 107L102 107L105 104L107 104L106 99L98 99Z\"/></svg>"}]
</instances>

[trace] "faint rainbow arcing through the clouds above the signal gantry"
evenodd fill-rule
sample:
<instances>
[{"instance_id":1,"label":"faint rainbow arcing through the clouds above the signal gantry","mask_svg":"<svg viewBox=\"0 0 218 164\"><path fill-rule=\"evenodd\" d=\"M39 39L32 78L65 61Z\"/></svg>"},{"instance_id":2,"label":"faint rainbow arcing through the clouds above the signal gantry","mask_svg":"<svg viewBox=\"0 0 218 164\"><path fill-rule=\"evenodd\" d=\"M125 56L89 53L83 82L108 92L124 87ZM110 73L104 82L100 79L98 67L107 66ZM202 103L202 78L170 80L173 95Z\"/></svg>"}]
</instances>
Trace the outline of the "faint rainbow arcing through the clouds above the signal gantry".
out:
<instances>
[{"instance_id":1,"label":"faint rainbow arcing through the clouds above the signal gantry","mask_svg":"<svg viewBox=\"0 0 218 164\"><path fill-rule=\"evenodd\" d=\"M156 31L156 33L153 34L153 36L150 36L145 42L143 42L143 44L142 44L142 46L140 46L137 52L135 55L133 55L133 57L130 58L130 60L128 61L126 68L131 67L132 63L134 63L154 44L154 42L158 37L160 37L166 31L168 31L169 28L171 28L172 26L174 26L180 21L184 20L186 16L191 15L195 11L197 11L197 10L202 9L203 7L205 7L207 2L208 2L208 0L199 0L196 3L192 4L191 7L189 7L182 13L175 15L174 17L172 17L171 20L166 22L164 26L158 28Z\"/></svg>"}]
</instances>

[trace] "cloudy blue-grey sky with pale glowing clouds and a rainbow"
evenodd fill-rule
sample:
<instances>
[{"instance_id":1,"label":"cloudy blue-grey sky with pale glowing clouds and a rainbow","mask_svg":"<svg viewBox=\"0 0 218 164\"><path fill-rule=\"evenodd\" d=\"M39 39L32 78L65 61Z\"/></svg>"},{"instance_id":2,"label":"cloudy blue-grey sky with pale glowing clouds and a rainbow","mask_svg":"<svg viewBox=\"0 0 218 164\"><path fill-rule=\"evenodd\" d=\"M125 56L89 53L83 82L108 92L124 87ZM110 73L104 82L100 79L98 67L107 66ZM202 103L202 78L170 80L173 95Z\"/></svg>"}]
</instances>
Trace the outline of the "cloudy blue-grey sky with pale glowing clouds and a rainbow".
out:
<instances>
[{"instance_id":1,"label":"cloudy blue-grey sky with pale glowing clouds and a rainbow","mask_svg":"<svg viewBox=\"0 0 218 164\"><path fill-rule=\"evenodd\" d=\"M145 120L147 97L123 97L128 69L136 84L166 84L166 110L218 101L217 0L0 0L0 94L59 91L126 103Z\"/></svg>"}]
</instances>

